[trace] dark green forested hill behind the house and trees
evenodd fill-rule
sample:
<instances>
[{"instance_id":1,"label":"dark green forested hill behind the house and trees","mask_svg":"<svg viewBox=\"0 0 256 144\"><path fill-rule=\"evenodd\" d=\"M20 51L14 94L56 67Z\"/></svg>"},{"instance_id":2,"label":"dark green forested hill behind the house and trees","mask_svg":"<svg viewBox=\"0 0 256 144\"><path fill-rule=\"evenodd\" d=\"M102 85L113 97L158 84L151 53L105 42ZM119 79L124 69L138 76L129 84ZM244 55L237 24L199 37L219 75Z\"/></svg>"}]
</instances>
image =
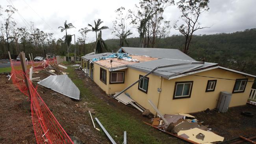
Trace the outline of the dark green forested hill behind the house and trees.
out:
<instances>
[{"instance_id":1,"label":"dark green forested hill behind the house and trees","mask_svg":"<svg viewBox=\"0 0 256 144\"><path fill-rule=\"evenodd\" d=\"M182 35L173 35L160 39L157 47L179 49L183 46L184 39ZM139 38L130 38L128 41L129 47L139 47ZM202 61L204 58L206 62L219 63L221 66L256 74L256 29L195 35L192 41L189 56L197 61ZM109 50L119 49L117 39L108 39L105 43ZM87 44L88 47L92 45Z\"/></svg>"}]
</instances>

